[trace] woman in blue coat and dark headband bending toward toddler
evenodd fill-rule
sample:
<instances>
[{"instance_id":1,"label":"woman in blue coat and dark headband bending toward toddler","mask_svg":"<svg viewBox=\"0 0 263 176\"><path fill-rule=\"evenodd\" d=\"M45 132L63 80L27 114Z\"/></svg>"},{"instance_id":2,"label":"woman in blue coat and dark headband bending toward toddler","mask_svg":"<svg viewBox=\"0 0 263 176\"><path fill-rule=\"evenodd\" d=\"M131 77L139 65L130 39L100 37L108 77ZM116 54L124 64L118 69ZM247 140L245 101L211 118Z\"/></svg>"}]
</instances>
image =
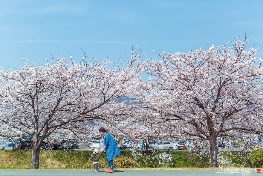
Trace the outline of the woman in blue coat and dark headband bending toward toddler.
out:
<instances>
[{"instance_id":1,"label":"woman in blue coat and dark headband bending toward toddler","mask_svg":"<svg viewBox=\"0 0 263 176\"><path fill-rule=\"evenodd\" d=\"M109 168L106 172L112 173L113 172L113 159L116 155L120 155L120 151L113 137L108 133L108 130L105 130L105 128L101 127L99 129L99 133L101 136L103 136L103 142L100 148L100 152L103 152L103 151L105 152L106 154L105 160Z\"/></svg>"}]
</instances>

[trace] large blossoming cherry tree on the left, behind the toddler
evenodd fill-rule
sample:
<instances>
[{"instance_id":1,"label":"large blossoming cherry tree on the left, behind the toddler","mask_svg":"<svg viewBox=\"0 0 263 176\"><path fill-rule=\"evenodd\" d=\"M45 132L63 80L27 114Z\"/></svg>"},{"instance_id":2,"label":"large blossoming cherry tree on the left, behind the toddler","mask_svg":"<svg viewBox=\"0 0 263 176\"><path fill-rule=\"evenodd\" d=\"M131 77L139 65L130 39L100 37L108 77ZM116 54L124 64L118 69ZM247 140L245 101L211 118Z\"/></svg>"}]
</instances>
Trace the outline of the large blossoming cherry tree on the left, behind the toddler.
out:
<instances>
[{"instance_id":1,"label":"large blossoming cherry tree on the left, behind the toddler","mask_svg":"<svg viewBox=\"0 0 263 176\"><path fill-rule=\"evenodd\" d=\"M40 146L54 131L123 113L125 105L117 98L126 95L143 70L144 61L134 50L125 64L113 67L107 58L88 62L84 53L80 64L58 58L37 66L24 60L19 69L1 70L1 136L29 136L30 167L37 169Z\"/></svg>"}]
</instances>

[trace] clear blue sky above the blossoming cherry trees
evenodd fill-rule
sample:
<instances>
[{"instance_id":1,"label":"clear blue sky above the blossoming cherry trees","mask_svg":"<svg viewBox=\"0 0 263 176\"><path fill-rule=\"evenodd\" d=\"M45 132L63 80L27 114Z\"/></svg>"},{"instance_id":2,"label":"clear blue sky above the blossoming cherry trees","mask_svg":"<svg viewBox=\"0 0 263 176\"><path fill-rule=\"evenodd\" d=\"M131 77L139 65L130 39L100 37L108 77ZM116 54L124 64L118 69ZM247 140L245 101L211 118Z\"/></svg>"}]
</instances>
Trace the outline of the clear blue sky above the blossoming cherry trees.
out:
<instances>
[{"instance_id":1,"label":"clear blue sky above the blossoming cherry trees","mask_svg":"<svg viewBox=\"0 0 263 176\"><path fill-rule=\"evenodd\" d=\"M0 67L22 66L20 58L79 62L130 57L132 42L149 58L153 50L188 52L233 41L245 32L263 55L263 1L1 1ZM230 46L230 44L228 44Z\"/></svg>"}]
</instances>

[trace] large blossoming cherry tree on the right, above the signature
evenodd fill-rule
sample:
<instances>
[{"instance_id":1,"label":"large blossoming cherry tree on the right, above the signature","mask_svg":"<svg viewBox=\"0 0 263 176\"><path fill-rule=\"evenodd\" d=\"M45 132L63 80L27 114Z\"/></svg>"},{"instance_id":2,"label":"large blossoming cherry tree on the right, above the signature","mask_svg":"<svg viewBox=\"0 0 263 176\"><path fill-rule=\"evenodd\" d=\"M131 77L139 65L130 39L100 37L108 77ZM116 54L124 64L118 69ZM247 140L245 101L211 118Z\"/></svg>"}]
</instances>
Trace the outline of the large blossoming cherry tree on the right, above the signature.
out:
<instances>
[{"instance_id":1,"label":"large blossoming cherry tree on the right, above the signature","mask_svg":"<svg viewBox=\"0 0 263 176\"><path fill-rule=\"evenodd\" d=\"M211 167L217 167L217 136L261 134L262 60L247 38L208 50L156 52L163 59L149 63L149 82L134 92L143 107L155 111L147 121L176 128L210 141Z\"/></svg>"}]
</instances>

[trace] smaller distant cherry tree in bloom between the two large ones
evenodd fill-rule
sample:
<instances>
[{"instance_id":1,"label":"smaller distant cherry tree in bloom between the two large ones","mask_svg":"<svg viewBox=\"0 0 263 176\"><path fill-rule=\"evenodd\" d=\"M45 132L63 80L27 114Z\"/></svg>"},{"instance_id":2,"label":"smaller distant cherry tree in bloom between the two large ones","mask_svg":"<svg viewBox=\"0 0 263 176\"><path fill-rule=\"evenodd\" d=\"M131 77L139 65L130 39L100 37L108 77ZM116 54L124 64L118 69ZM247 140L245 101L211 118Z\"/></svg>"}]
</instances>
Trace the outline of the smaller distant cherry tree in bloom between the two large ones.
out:
<instances>
[{"instance_id":1,"label":"smaller distant cherry tree in bloom between the two large ones","mask_svg":"<svg viewBox=\"0 0 263 176\"><path fill-rule=\"evenodd\" d=\"M152 118L153 111L143 109L140 103L136 103L137 100L130 101L126 107L126 112L128 112L126 115L123 113L122 117L119 116L110 121L104 120L103 125L100 124L99 126L108 129L117 143L121 139L126 138L128 139L127 141L130 140L133 143L133 148L131 149L145 148L148 155L150 153L150 142L158 139L168 139L171 132L174 132L176 129L163 128L161 124L147 121L146 119Z\"/></svg>"}]
</instances>

